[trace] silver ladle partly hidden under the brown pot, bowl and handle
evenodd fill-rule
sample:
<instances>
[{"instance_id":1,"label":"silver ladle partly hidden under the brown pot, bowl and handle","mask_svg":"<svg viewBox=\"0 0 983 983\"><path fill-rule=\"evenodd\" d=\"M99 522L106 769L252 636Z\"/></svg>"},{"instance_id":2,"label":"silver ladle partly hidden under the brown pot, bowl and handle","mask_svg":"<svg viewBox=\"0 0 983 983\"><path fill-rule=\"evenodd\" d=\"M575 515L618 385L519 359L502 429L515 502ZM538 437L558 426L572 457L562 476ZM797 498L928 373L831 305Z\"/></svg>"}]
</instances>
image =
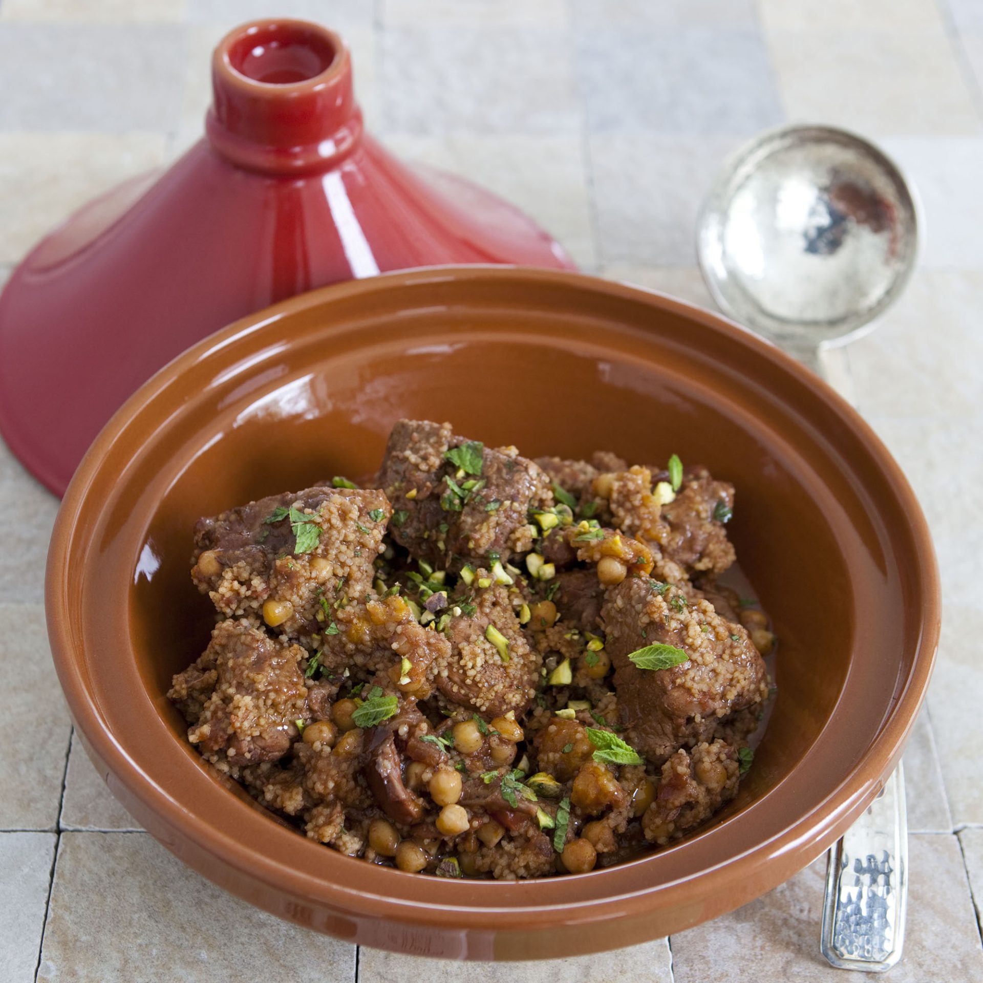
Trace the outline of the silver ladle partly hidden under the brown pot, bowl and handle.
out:
<instances>
[{"instance_id":1,"label":"silver ladle partly hidden under the brown pot, bowl and handle","mask_svg":"<svg viewBox=\"0 0 983 983\"><path fill-rule=\"evenodd\" d=\"M914 268L919 206L876 146L792 126L741 147L699 220L697 250L721 309L823 375L822 352L877 326ZM882 972L900 958L907 901L901 766L830 850L820 948Z\"/></svg>"}]
</instances>

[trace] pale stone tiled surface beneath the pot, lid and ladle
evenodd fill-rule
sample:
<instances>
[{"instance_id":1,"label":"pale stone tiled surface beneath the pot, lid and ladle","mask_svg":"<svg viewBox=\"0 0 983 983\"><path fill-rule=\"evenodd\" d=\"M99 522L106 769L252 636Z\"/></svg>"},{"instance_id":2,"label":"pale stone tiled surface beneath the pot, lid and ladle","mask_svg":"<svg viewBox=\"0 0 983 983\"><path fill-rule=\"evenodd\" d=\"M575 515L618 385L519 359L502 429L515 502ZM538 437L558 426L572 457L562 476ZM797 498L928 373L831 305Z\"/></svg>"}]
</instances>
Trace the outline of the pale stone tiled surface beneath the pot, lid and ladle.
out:
<instances>
[{"instance_id":1,"label":"pale stone tiled surface beneath the pot, lid and ladle","mask_svg":"<svg viewBox=\"0 0 983 983\"><path fill-rule=\"evenodd\" d=\"M827 367L918 492L946 599L905 755L911 904L889 978L983 979L983 0L0 0L0 284L77 205L197 139L210 46L270 12L342 29L369 124L398 152L526 208L585 269L699 304L695 215L748 135L839 123L908 169L927 216L920 269L883 329ZM0 445L0 978L497 979L276 921L140 830L71 737L52 671L56 508ZM841 979L818 955L821 893L820 862L670 940L507 972Z\"/></svg>"}]
</instances>

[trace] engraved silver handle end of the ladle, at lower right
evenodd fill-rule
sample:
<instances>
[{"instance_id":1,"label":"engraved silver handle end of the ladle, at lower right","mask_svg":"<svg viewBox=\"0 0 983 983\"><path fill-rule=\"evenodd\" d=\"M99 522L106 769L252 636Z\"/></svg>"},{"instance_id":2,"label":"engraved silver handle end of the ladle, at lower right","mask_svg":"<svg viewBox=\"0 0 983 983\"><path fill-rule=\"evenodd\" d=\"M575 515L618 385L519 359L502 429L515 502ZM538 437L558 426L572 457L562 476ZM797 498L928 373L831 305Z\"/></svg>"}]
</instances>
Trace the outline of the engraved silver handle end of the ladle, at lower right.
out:
<instances>
[{"instance_id":1,"label":"engraved silver handle end of the ladle, at lower right","mask_svg":"<svg viewBox=\"0 0 983 983\"><path fill-rule=\"evenodd\" d=\"M904 772L830 850L820 948L838 969L884 972L901 956L908 895Z\"/></svg>"}]
</instances>

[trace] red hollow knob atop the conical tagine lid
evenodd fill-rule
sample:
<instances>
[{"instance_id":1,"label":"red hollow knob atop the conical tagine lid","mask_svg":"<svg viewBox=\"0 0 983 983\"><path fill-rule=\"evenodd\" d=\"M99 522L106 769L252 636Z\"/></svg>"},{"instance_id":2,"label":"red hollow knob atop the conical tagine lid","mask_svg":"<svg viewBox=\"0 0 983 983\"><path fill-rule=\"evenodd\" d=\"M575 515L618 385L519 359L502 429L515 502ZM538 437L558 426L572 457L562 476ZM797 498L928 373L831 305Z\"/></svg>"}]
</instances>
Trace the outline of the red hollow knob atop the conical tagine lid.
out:
<instances>
[{"instance_id":1,"label":"red hollow knob atop the conical tagine lid","mask_svg":"<svg viewBox=\"0 0 983 983\"><path fill-rule=\"evenodd\" d=\"M241 167L318 170L361 136L351 58L333 30L277 19L230 31L212 56L211 84L208 140Z\"/></svg>"}]
</instances>

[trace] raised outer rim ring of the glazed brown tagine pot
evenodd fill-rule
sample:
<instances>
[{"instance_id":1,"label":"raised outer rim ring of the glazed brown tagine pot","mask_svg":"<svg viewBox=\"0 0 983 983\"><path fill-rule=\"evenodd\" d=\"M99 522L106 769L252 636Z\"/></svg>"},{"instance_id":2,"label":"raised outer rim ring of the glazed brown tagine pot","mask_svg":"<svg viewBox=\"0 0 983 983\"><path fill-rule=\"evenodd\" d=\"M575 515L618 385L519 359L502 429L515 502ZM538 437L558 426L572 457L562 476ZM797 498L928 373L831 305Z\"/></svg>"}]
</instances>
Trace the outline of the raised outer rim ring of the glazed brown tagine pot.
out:
<instances>
[{"instance_id":1,"label":"raised outer rim ring of the glazed brown tagine pot","mask_svg":"<svg viewBox=\"0 0 983 983\"><path fill-rule=\"evenodd\" d=\"M683 840L630 863L563 879L546 878L518 884L489 881L447 882L418 878L416 875L370 865L369 869L359 872L364 873L364 877L359 878L363 883L353 885L344 875L354 873L355 869L343 865L361 865L363 861L352 860L330 850L325 851L324 855L331 856L331 860L325 863L337 865L339 873L338 880L328 881L301 869L299 863L287 866L267 854L257 854L245 848L230 832L205 822L200 815L190 811L177 797L172 797L157 784L151 772L144 771L137 765L106 726L82 671L84 657L81 643L78 658L76 656L77 645L70 628L72 602L69 596L69 578L64 576L64 571L68 569L70 551L77 533L80 532L80 526L86 520L89 526L86 535L90 536L100 513L98 505L87 505L86 494L113 442L176 378L238 338L260 331L263 326L277 322L280 318L317 308L332 300L446 281L486 284L498 281L499 284L504 282L526 284L530 288L550 287L595 297L604 295L608 299L641 303L676 317L694 320L736 340L741 346L750 349L756 359L772 363L773 368L778 367L784 376L791 376L800 388L808 390L826 409L834 411L850 435L862 445L867 462L875 466L880 479L895 493L898 504L907 516L908 526L901 531L895 530L893 535L900 537L904 534L910 541L910 549L907 551L909 554L913 552L917 560L917 589L922 601L921 609L915 617L918 641L914 646L912 665L893 709L880 724L876 737L871 740L865 753L838 780L831 794L818 803L811 803L806 813L796 815L794 820L783 826L781 833L728 857L724 863L712 869L701 869L658 883L650 880L642 887L638 886L638 876L633 871L669 854L679 856L683 851L696 847L704 835ZM80 541L84 541L84 537ZM75 579L82 579L78 576L78 571ZM818 377L808 373L774 345L725 318L654 291L579 273L481 265L428 267L322 288L236 321L161 369L113 416L96 437L79 466L66 492L52 535L45 600L52 654L73 719L94 754L105 763L109 773L123 784L127 792L140 800L147 811L160 821L162 827L177 831L203 854L217 859L224 865L224 869L238 872L249 882L258 881L281 896L306 897L322 908L347 913L356 921L388 921L407 926L415 925L430 931L467 931L486 937L507 935L509 932L520 935L530 930L549 929L551 926L565 926L570 929L572 926L610 922L613 919L630 918L637 924L644 922L647 913L656 907L661 910L685 908L688 914L677 920L680 924L696 924L710 916L701 909L701 901L707 891L699 882L712 882L714 896L718 900L713 905L708 904L707 908L712 908L711 914L718 914L753 896L759 896L765 890L780 884L794 870L806 866L849 827L881 789L900 757L928 686L938 644L941 608L935 554L925 519L913 492L878 437ZM798 767L800 766L793 768L789 776ZM221 792L228 794L224 789ZM232 802L230 798L230 808ZM242 810L250 811L255 816L255 820L248 820L244 815L239 816L244 823L261 822L266 824L263 830L268 829L268 818L259 812L252 813L242 803L239 805ZM753 809L754 803L748 808ZM741 815L743 812L727 822L739 820ZM297 836L293 831L282 832L290 837ZM708 835L712 833L713 829ZM298 854L305 843L313 849L323 849L318 844L298 838ZM184 858L189 859L187 849L184 851ZM782 863L771 865L769 876L762 875L763 866L767 868L770 861L780 859ZM712 877L705 876L711 873ZM404 881L400 883L394 879ZM636 884L629 887L633 880ZM365 886L376 881L389 885L393 896L382 891L376 893ZM415 894L435 896L438 900L408 899L406 895L411 882ZM563 886L559 889L559 895L557 884ZM407 890L396 891L397 885ZM256 900L256 892L252 894ZM722 896L727 898L723 904L719 900ZM261 899L256 902L262 903ZM644 930L640 930L639 938L643 934Z\"/></svg>"}]
</instances>

